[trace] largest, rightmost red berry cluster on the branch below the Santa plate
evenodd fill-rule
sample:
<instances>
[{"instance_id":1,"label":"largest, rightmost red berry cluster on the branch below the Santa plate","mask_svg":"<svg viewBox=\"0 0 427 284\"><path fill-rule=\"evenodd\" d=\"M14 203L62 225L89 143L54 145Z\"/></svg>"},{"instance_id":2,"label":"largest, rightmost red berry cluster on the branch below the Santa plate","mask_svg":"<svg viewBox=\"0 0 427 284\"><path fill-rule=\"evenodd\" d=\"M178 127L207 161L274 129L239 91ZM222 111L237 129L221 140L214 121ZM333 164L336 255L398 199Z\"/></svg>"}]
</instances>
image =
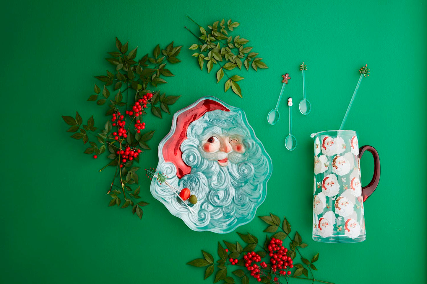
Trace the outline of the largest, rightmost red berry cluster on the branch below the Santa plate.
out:
<instances>
[{"instance_id":1,"label":"largest, rightmost red berry cluster on the branch below the Santa plate","mask_svg":"<svg viewBox=\"0 0 427 284\"><path fill-rule=\"evenodd\" d=\"M268 245L270 262L272 263L273 272L279 271L281 275L291 275L291 272L288 271L288 267L292 268L292 258L287 256L287 248L282 246L283 241L279 239L272 238ZM275 280L277 281L277 280Z\"/></svg>"}]
</instances>

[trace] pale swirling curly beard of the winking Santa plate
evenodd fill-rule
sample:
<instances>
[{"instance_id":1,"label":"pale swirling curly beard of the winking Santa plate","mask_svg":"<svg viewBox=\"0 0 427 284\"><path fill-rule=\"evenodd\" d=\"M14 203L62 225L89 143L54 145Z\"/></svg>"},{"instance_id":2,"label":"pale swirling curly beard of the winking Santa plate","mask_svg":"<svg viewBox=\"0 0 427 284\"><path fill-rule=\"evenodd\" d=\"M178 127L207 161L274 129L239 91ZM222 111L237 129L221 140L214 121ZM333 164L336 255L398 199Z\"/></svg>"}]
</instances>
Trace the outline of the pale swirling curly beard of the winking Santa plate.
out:
<instances>
[{"instance_id":1,"label":"pale swirling curly beard of the winking Santa plate","mask_svg":"<svg viewBox=\"0 0 427 284\"><path fill-rule=\"evenodd\" d=\"M245 154L231 152L228 165L221 166L218 156L214 160L203 157L198 140L189 138L182 143L182 159L191 167L191 173L182 177L178 185L190 188L197 196L198 214L188 215L197 227L232 226L237 219L253 214L254 204L265 197L262 181L268 162L252 139L246 139L244 144Z\"/></svg>"}]
</instances>

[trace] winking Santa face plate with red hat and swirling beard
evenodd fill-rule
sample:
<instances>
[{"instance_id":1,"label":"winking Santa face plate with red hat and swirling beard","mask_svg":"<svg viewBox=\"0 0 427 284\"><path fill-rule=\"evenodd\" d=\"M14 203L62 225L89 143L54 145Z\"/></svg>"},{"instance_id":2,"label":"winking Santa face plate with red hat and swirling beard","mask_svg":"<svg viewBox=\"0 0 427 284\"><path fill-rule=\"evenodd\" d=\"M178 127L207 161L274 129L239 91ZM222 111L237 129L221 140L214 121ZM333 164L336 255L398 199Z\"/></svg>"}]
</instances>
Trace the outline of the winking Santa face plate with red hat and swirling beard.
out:
<instances>
[{"instance_id":1,"label":"winking Santa face plate with red hat and swirling beard","mask_svg":"<svg viewBox=\"0 0 427 284\"><path fill-rule=\"evenodd\" d=\"M173 116L160 142L157 170L175 188L190 188L187 205L153 179L151 193L194 231L228 233L250 222L266 198L272 162L240 108L203 97ZM188 202L188 201L187 201Z\"/></svg>"}]
</instances>

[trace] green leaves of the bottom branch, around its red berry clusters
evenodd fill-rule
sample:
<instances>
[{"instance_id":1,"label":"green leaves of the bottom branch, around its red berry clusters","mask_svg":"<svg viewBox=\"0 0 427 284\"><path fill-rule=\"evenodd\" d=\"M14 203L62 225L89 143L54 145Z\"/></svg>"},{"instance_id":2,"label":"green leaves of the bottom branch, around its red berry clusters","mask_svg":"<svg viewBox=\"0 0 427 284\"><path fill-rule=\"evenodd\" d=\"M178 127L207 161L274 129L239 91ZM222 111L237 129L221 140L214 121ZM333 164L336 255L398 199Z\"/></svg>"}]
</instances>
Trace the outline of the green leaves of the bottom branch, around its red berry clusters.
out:
<instances>
[{"instance_id":1,"label":"green leaves of the bottom branch, around its red berry clusters","mask_svg":"<svg viewBox=\"0 0 427 284\"><path fill-rule=\"evenodd\" d=\"M260 216L260 219L269 225L264 230L264 232L272 233L272 235L266 235L266 240L263 245L259 243L257 237L251 235L250 233L237 233L242 239L242 241L246 243L245 246L242 246L238 241L236 243L223 241L223 243L227 247L227 249L224 249L222 244L218 242L217 254L219 256L219 260L214 261L214 258L210 253L202 250L203 258L196 258L193 261L188 262L187 264L195 267L206 267L205 279L211 276L216 270L215 278L213 280L214 283L218 281L223 281L223 283L231 284L239 282L241 282L242 284L248 284L249 277L247 274L249 273L249 271L242 269L234 270L232 274L234 276L237 276L238 279L235 279L233 275L228 274L229 270L231 270L231 268L234 266L231 263L227 262L228 258L238 259L235 265L237 265L237 267L245 267L245 261L243 260L243 256L246 255L247 252L255 251L256 254L260 255L260 258L270 258L268 246L271 238L280 239L282 241L286 238L289 238L290 248L287 251L287 255L290 256L293 261L296 257L296 252L298 252L301 257L302 263L293 264L293 272L291 275L281 275L279 273L276 274L272 270L271 264L267 264L266 268L261 270L262 277L260 277L260 281L262 283L279 284L281 283L281 279L283 278L287 283L290 278L298 278L310 280L312 282L318 281L322 283L332 284L331 282L326 282L314 278L313 270L317 270L317 268L313 263L319 259L319 253L314 255L313 258L311 258L311 261L301 255L300 249L307 247L307 243L302 242L301 235L299 235L298 232L295 232L293 238L290 237L291 226L286 217L284 217L284 220L282 222L278 216L270 213L269 216ZM278 231L278 229L281 230ZM257 247L259 247L260 249L257 250ZM308 278L309 271L312 278ZM304 275L306 278L299 277L301 275ZM278 278L277 281L274 280L275 277Z\"/></svg>"}]
</instances>

